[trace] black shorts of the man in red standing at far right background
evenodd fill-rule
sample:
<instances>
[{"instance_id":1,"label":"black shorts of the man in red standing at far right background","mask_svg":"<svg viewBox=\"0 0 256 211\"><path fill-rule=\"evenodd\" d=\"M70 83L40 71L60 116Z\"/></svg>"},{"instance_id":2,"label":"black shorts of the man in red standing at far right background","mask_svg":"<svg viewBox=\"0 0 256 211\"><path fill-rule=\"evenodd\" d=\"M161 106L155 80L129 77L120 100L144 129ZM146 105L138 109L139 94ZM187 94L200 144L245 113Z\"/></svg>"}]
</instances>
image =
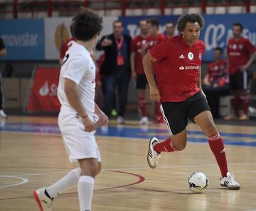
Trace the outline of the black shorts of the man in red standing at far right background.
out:
<instances>
[{"instance_id":1,"label":"black shorts of the man in red standing at far right background","mask_svg":"<svg viewBox=\"0 0 256 211\"><path fill-rule=\"evenodd\" d=\"M237 72L230 76L230 88L234 91L246 91L249 84L249 74L247 71Z\"/></svg>"}]
</instances>

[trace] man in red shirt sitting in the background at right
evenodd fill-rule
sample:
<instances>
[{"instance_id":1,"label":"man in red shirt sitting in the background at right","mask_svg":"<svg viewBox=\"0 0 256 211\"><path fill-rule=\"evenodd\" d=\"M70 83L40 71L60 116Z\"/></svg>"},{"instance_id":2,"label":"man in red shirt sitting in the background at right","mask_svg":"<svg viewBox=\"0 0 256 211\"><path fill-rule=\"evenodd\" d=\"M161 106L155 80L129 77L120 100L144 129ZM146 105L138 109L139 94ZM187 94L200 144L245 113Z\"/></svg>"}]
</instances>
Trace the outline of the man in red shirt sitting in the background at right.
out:
<instances>
[{"instance_id":1,"label":"man in red shirt sitting in the background at right","mask_svg":"<svg viewBox=\"0 0 256 211\"><path fill-rule=\"evenodd\" d=\"M208 72L203 79L203 92L206 94L213 118L220 117L220 96L230 93L227 65L222 55L223 49L215 47L213 52L215 61L208 65Z\"/></svg>"}]
</instances>

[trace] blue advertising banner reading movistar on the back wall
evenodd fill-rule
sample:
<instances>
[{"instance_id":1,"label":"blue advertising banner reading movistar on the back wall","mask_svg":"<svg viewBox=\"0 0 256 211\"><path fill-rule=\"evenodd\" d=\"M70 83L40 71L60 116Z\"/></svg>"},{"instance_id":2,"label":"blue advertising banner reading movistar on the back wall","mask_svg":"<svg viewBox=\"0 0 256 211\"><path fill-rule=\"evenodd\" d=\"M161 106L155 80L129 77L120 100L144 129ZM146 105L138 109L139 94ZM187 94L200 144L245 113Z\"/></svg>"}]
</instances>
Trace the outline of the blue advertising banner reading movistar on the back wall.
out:
<instances>
[{"instance_id":1,"label":"blue advertising banner reading movistar on the back wall","mask_svg":"<svg viewBox=\"0 0 256 211\"><path fill-rule=\"evenodd\" d=\"M43 60L43 19L1 20L0 36L7 56L3 60Z\"/></svg>"}]
</instances>

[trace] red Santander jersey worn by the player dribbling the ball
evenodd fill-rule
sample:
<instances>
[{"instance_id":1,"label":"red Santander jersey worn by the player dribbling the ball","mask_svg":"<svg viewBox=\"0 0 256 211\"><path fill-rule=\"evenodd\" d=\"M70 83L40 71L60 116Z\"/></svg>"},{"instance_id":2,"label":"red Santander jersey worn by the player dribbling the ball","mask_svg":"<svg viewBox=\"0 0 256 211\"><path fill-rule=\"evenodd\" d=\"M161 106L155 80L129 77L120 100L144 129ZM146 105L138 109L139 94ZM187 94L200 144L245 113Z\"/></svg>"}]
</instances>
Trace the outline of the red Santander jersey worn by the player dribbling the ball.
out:
<instances>
[{"instance_id":1,"label":"red Santander jersey worn by the player dribbling the ball","mask_svg":"<svg viewBox=\"0 0 256 211\"><path fill-rule=\"evenodd\" d=\"M185 101L200 90L197 82L205 49L202 40L189 46L182 35L177 35L150 50L159 62L154 72L162 102Z\"/></svg>"}]
</instances>

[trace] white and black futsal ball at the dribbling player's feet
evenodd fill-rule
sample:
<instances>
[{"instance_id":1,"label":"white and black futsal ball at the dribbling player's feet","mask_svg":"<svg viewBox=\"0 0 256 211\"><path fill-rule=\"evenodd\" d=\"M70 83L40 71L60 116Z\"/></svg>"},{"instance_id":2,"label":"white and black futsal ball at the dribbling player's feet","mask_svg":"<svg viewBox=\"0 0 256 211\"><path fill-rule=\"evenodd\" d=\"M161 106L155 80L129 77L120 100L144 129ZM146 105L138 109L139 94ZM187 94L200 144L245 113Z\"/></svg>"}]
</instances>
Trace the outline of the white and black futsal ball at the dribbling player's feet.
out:
<instances>
[{"instance_id":1,"label":"white and black futsal ball at the dribbling player's feet","mask_svg":"<svg viewBox=\"0 0 256 211\"><path fill-rule=\"evenodd\" d=\"M193 193L203 193L208 186L208 182L208 178L204 173L196 171L188 178L188 188Z\"/></svg>"}]
</instances>

